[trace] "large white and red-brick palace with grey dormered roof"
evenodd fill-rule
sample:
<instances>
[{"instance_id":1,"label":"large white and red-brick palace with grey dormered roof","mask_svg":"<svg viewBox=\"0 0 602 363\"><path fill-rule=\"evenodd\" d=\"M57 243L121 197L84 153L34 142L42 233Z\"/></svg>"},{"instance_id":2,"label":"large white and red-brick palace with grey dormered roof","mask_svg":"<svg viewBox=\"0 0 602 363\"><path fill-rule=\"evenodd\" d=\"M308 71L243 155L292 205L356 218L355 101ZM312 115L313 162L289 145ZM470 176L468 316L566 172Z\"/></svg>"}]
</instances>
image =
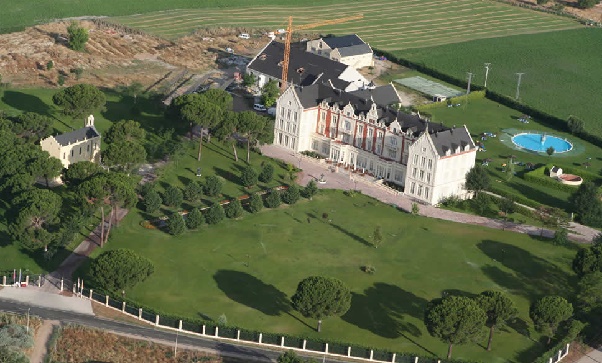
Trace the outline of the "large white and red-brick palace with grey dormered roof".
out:
<instances>
[{"instance_id":1,"label":"large white and red-brick palace with grey dormered roof","mask_svg":"<svg viewBox=\"0 0 602 363\"><path fill-rule=\"evenodd\" d=\"M399 112L388 103L398 98L394 88L383 87L351 93L322 82L288 87L277 102L274 144L394 182L428 204L469 196L464 184L476 147L466 127Z\"/></svg>"}]
</instances>

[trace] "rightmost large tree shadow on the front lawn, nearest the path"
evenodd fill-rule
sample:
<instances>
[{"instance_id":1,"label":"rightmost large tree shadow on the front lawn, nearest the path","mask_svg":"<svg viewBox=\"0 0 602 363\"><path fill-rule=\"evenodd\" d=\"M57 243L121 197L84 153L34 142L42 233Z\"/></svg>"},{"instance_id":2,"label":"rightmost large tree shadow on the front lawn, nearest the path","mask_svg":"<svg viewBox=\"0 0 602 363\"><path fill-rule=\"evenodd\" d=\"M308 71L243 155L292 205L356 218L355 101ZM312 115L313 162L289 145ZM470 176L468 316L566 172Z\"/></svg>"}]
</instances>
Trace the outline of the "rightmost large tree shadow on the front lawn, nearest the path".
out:
<instances>
[{"instance_id":1,"label":"rightmost large tree shadow on the front lawn, nearest the path","mask_svg":"<svg viewBox=\"0 0 602 363\"><path fill-rule=\"evenodd\" d=\"M492 263L482 267L496 284L530 299L545 295L571 294L576 277L532 253L498 241L484 240L477 247ZM501 264L513 273L496 266Z\"/></svg>"}]
</instances>

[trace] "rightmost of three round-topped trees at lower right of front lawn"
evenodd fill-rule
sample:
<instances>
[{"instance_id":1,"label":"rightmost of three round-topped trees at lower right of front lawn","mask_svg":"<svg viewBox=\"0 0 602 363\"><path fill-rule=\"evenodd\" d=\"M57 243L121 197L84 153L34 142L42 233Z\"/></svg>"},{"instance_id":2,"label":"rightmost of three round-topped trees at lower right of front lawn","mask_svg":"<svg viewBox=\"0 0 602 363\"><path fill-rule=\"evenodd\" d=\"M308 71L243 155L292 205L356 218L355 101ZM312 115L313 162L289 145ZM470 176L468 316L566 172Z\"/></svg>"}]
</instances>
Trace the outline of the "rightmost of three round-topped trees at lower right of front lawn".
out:
<instances>
[{"instance_id":1,"label":"rightmost of three round-topped trees at lower right of front lawn","mask_svg":"<svg viewBox=\"0 0 602 363\"><path fill-rule=\"evenodd\" d=\"M535 329L548 336L548 344L558 326L573 315L573 305L560 296L545 296L537 300L529 310Z\"/></svg>"}]
</instances>

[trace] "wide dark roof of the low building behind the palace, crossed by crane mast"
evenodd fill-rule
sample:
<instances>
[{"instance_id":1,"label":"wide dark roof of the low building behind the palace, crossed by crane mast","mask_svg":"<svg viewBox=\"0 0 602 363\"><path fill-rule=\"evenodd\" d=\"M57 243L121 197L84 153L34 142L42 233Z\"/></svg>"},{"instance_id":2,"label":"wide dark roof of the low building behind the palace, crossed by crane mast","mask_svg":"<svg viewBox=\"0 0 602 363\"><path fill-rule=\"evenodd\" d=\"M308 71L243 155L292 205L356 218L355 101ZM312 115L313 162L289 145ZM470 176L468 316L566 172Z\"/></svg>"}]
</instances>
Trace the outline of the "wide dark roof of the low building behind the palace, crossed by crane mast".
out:
<instances>
[{"instance_id":1,"label":"wide dark roof of the low building behind the palace, crossed by crane mast","mask_svg":"<svg viewBox=\"0 0 602 363\"><path fill-rule=\"evenodd\" d=\"M334 87L345 89L350 82L339 79L347 65L305 51L305 43L292 43L288 66L288 81L301 86L312 85L316 80L330 80ZM249 63L247 68L280 79L284 59L284 44L272 41L263 52ZM302 70L302 72L301 72Z\"/></svg>"}]
</instances>

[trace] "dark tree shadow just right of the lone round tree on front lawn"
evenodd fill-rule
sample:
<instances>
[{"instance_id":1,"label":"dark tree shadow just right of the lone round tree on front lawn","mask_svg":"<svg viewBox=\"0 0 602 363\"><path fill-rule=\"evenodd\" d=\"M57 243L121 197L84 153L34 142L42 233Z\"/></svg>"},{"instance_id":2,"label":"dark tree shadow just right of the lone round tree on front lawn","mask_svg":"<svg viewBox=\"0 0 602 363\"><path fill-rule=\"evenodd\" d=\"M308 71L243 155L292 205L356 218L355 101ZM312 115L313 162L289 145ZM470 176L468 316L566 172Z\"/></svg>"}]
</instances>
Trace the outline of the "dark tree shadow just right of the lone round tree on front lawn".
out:
<instances>
[{"instance_id":1,"label":"dark tree shadow just right of the lone round tree on front lawn","mask_svg":"<svg viewBox=\"0 0 602 363\"><path fill-rule=\"evenodd\" d=\"M420 337L422 332L407 321L408 317L422 320L426 305L425 299L411 292L378 282L363 294L353 293L351 308L343 315L343 320L384 338L404 337L434 355L412 339Z\"/></svg>"}]
</instances>

